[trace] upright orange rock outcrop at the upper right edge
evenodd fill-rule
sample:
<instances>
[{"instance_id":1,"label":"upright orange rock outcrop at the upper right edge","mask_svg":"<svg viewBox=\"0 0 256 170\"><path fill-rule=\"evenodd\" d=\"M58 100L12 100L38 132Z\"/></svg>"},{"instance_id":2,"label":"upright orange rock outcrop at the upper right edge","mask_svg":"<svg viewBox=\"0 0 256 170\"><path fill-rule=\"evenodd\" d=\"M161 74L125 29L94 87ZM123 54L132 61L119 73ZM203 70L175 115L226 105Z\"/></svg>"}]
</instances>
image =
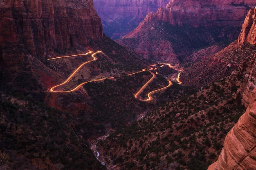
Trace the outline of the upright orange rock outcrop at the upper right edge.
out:
<instances>
[{"instance_id":1,"label":"upright orange rock outcrop at the upper right edge","mask_svg":"<svg viewBox=\"0 0 256 170\"><path fill-rule=\"evenodd\" d=\"M238 37L238 43L256 44L256 7L251 9L245 18L242 31Z\"/></svg>"}]
</instances>

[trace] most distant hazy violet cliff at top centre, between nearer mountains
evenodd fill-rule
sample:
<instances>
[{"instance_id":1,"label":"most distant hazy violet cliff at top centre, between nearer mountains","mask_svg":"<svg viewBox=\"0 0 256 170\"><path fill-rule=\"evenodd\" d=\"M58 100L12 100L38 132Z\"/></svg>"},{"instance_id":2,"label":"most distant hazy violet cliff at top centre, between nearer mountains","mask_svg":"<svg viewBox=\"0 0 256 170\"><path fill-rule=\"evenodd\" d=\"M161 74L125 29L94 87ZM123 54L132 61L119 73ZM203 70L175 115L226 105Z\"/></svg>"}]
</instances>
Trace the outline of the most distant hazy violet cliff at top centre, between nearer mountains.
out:
<instances>
[{"instance_id":1,"label":"most distant hazy violet cliff at top centre, between nearer mountains","mask_svg":"<svg viewBox=\"0 0 256 170\"><path fill-rule=\"evenodd\" d=\"M165 7L171 0L94 0L104 33L112 39L126 35L151 11Z\"/></svg>"}]
</instances>

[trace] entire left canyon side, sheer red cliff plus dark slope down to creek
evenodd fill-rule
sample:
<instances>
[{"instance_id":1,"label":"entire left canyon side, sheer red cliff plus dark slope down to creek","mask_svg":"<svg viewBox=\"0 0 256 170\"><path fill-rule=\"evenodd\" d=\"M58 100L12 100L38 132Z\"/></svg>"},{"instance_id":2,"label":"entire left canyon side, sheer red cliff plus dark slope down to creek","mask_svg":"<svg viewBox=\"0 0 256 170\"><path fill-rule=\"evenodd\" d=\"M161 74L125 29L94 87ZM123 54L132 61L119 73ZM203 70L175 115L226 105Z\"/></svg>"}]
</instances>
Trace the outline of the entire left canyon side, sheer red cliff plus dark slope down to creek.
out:
<instances>
[{"instance_id":1,"label":"entire left canyon side, sheer red cliff plus dark slope down to creek","mask_svg":"<svg viewBox=\"0 0 256 170\"><path fill-rule=\"evenodd\" d=\"M150 74L122 75L149 64L103 35L92 0L5 0L0 11L0 159L9 161L0 169L106 169L90 141L148 108L133 94ZM102 52L96 61L92 53L74 56L88 50ZM60 89L116 77L49 92L88 61Z\"/></svg>"}]
</instances>

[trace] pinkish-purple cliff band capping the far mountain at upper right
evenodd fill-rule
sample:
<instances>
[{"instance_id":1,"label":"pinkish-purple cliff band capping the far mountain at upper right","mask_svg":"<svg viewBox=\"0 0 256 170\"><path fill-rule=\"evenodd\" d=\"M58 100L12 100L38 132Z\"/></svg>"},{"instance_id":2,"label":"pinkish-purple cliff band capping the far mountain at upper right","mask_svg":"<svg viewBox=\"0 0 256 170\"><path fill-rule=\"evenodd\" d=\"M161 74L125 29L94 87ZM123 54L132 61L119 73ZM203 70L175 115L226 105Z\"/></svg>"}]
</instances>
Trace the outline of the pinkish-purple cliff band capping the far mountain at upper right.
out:
<instances>
[{"instance_id":1,"label":"pinkish-purple cliff band capping the far mountain at upper right","mask_svg":"<svg viewBox=\"0 0 256 170\"><path fill-rule=\"evenodd\" d=\"M172 26L238 26L243 24L249 8L255 7L254 0L178 0L169 2L156 13L148 13L143 22L159 20ZM132 37L136 30L126 38Z\"/></svg>"}]
</instances>

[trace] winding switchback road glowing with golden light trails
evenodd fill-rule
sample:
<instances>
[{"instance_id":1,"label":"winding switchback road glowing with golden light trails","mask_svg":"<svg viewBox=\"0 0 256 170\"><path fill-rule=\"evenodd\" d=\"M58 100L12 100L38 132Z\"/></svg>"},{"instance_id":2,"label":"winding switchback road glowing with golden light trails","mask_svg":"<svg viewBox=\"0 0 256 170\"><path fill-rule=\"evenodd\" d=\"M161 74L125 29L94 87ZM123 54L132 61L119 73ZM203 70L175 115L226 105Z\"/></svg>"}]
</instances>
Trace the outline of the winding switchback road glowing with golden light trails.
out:
<instances>
[{"instance_id":1,"label":"winding switchback road glowing with golden light trails","mask_svg":"<svg viewBox=\"0 0 256 170\"><path fill-rule=\"evenodd\" d=\"M64 81L64 82L61 83L61 84L55 85L55 86L53 86L53 87L50 87L48 91L49 91L49 92L52 92L52 93L68 93L68 92L74 92L74 91L76 91L77 89L79 89L81 86L83 86L83 85L86 84L86 83L90 83L90 82L94 82L94 81L103 81L103 80L106 80L106 79L113 79L113 78L115 78L115 77L108 77L108 78L101 78L101 79L97 79L97 80L86 81L86 82L83 82L83 83L77 85L76 87L74 87L73 89L68 90L68 91L58 91L58 90L56 90L57 87L61 87L61 86L65 85L65 84L67 84L67 83L74 77L74 75L75 75L85 64L97 60L97 57L94 57L94 56L95 56L97 53L100 53L100 52L102 52L102 51L94 52L94 53L91 55L92 58L93 58L92 60L86 61L85 63L82 63L82 64L67 78L66 81ZM54 58L50 58L50 59L48 59L48 60L61 59L61 58L66 58L66 57L83 56L83 55L88 55L88 54L91 54L91 53L92 53L92 51L89 51L89 52L87 52L87 53L85 53L85 54L75 54L75 55L69 55L69 56L54 57ZM173 67L171 66L171 64L168 64L168 63L160 64L160 67L157 67L157 68L164 67L164 65L168 65L170 68L173 68ZM149 69L148 71L152 74L152 78L150 78L150 80L149 80L148 82L146 82L146 83L141 87L141 89L139 89L139 91L134 95L135 98L138 99L139 94L140 94L140 93L145 89L145 87L146 87L151 81L153 81L153 79L155 78L155 74L150 71L150 70L156 70L157 68L152 68L152 67L155 67L155 66L156 66L156 64L150 65L150 69ZM177 70L177 69L175 69L175 70ZM145 71L146 71L146 69L142 69L142 70L139 71L139 72L134 72L134 73L131 73L131 74L126 74L126 76L130 76L130 75L137 74L137 73L140 73L140 72L145 72ZM177 71L183 72L183 70L177 70ZM156 72L156 74L158 74L158 73ZM178 76L177 76L177 78L176 78L176 80L179 82L178 84L181 84L181 83L182 83L182 82L180 81L180 74L181 74L181 73L179 73ZM160 90L162 90L162 89L166 89L167 87L170 87L170 86L172 85L172 82L171 82L170 80L167 80L167 81L168 81L169 84L168 84L166 87L162 87L162 88L160 88L160 89L156 89L156 90L154 90L154 91L152 91L152 92L149 92L149 93L147 94L147 97L148 97L147 99L139 99L139 100L141 100L141 101L150 101L150 100L153 100L153 98L151 97L151 94L153 94L153 93L155 93L155 92L158 92L158 91L160 91Z\"/></svg>"}]
</instances>

